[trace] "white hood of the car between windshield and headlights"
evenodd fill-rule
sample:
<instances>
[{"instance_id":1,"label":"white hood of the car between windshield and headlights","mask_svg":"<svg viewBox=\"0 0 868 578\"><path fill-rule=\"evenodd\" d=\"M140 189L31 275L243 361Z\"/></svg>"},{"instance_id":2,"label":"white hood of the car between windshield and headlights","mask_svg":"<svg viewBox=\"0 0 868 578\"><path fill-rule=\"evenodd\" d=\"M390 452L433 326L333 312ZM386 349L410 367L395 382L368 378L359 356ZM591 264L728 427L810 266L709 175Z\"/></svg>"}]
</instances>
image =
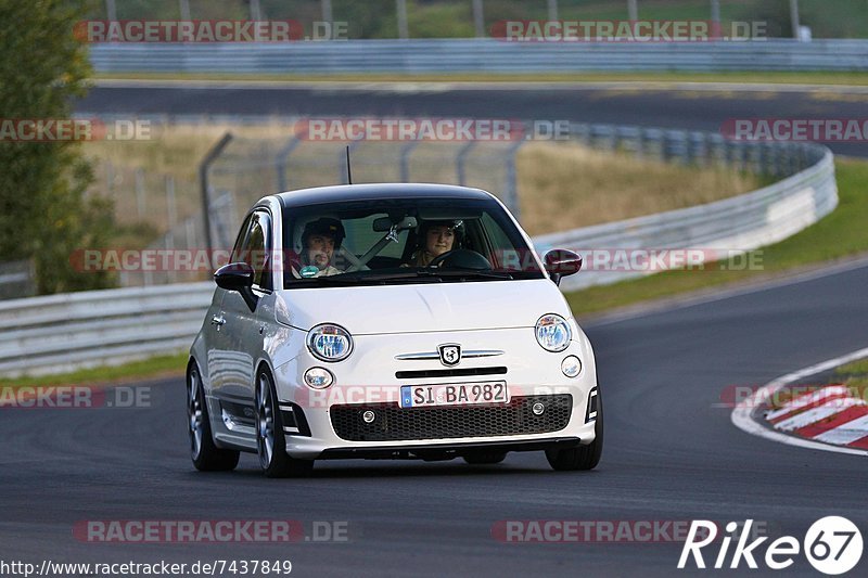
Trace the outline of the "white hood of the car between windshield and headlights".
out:
<instances>
[{"instance_id":1,"label":"white hood of the car between windshield and headlights","mask_svg":"<svg viewBox=\"0 0 868 578\"><path fill-rule=\"evenodd\" d=\"M352 335L533 327L546 313L572 316L548 279L294 288L278 298L284 323L336 323Z\"/></svg>"}]
</instances>

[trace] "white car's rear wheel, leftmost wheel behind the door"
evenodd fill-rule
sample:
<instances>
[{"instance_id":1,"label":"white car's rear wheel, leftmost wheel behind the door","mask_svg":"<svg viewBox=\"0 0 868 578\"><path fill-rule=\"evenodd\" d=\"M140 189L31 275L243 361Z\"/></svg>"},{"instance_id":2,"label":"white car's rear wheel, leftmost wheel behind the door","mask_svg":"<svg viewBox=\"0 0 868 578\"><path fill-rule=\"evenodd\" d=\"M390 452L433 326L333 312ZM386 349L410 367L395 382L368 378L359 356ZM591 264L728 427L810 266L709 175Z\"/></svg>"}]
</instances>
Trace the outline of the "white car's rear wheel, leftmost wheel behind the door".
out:
<instances>
[{"instance_id":1,"label":"white car's rear wheel, leftmost wheel behind the door","mask_svg":"<svg viewBox=\"0 0 868 578\"><path fill-rule=\"evenodd\" d=\"M190 435L190 458L200 472L231 472L238 465L239 452L214 444L208 420L208 406L202 374L195 361L187 368L187 432Z\"/></svg>"}]
</instances>

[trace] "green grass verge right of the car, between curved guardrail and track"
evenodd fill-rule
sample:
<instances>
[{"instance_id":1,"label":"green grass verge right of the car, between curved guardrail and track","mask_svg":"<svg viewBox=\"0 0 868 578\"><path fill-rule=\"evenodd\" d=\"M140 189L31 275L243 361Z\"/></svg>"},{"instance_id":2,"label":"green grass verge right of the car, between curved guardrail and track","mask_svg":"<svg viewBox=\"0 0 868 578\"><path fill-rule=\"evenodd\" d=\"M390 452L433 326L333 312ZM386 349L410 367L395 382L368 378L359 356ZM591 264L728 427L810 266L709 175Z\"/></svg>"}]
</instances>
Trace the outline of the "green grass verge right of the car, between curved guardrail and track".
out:
<instances>
[{"instance_id":1,"label":"green grass verge right of the car, between curved guardrail and track","mask_svg":"<svg viewBox=\"0 0 868 578\"><path fill-rule=\"evenodd\" d=\"M714 286L758 281L795 268L868 252L868 163L839 159L835 170L838 207L804 231L761 249L756 255L762 257L762 270L733 270L735 262L723 261L707 265L705 270L667 271L589 287L566 294L573 312L583 316Z\"/></svg>"}]
</instances>

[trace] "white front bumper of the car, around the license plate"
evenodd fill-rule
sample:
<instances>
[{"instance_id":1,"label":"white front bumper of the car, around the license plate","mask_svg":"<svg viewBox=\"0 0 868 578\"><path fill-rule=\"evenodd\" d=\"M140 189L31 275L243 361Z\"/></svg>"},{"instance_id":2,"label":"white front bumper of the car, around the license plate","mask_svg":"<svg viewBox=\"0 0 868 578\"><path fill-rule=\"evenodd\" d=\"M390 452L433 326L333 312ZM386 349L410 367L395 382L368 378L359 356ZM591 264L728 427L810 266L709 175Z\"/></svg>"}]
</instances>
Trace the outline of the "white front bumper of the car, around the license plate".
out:
<instances>
[{"instance_id":1,"label":"white front bumper of the car, around the license plate","mask_svg":"<svg viewBox=\"0 0 868 578\"><path fill-rule=\"evenodd\" d=\"M304 371L322 367L322 362L308 359L310 356L303 351L275 372L280 403L292 406L298 421L301 416L304 421L299 431L284 432L286 451L299 459L443 459L484 447L526 451L590 444L595 439L595 420L588 410L591 390L597 387L596 367L587 338L576 337L558 354L540 348L526 329L401 335L398 347L395 336L359 337L347 360L326 365L333 372L335 384L324 390L302 385ZM396 360L397 354L434 350L438 343L457 341L467 349L494 348L505 352L495 358L462 360L460 368L500 367L506 368L505 373L404 377L406 370L443 370L443 365L437 361ZM561 360L567 355L576 355L583 361L577 377L570 378L561 372ZM403 385L487 381L506 382L508 404L399 406ZM569 400L565 411L564 399ZM538 400L546 404L541 416L531 414L533 402ZM378 413L373 423L362 421L367 410Z\"/></svg>"}]
</instances>

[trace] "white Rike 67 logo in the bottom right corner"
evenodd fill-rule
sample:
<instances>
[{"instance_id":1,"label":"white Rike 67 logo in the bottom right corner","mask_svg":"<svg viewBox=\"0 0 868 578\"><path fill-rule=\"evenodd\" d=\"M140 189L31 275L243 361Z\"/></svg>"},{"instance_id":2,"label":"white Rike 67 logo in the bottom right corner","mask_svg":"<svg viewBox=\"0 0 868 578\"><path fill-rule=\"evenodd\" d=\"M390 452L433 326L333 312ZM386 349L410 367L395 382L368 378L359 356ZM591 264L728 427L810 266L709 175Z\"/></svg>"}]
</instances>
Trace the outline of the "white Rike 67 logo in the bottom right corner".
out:
<instances>
[{"instance_id":1,"label":"white Rike 67 logo in the bottom right corner","mask_svg":"<svg viewBox=\"0 0 868 578\"><path fill-rule=\"evenodd\" d=\"M735 569L743 561L749 568L756 569L758 568L756 562L758 558L765 563L766 567L773 570L782 570L793 564L800 552L804 552L807 561L817 570L827 575L839 575L853 569L861 558L861 532L845 517L827 516L818 519L808 528L801 543L792 536L781 536L766 545L765 555L762 556L760 547L768 540L768 537L755 538L749 543L753 519L745 521L743 527L736 522L726 525L726 534L719 540L719 550L714 557L712 567ZM742 528L741 532L738 532L739 528ZM695 567L704 569L706 562L702 549L716 542L717 534L718 528L714 522L694 519L690 524L687 541L681 549L678 568L688 567L692 557ZM733 539L736 547L730 555L729 547ZM712 554L713 552L706 551L705 553ZM727 564L727 560L729 564ZM709 562L712 563L712 561Z\"/></svg>"}]
</instances>

